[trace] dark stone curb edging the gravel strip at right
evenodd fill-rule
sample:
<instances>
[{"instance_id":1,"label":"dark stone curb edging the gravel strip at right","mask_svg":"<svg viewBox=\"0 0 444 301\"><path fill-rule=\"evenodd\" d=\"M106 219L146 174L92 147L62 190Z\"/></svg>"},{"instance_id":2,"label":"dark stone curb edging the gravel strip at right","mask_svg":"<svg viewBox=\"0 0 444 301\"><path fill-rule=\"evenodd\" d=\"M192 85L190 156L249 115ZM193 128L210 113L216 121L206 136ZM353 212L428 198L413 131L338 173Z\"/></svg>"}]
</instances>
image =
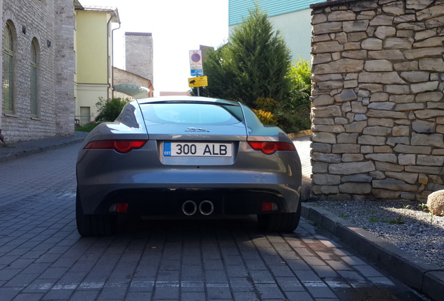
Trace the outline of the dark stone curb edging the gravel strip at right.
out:
<instances>
[{"instance_id":1,"label":"dark stone curb edging the gravel strip at right","mask_svg":"<svg viewBox=\"0 0 444 301\"><path fill-rule=\"evenodd\" d=\"M302 217L316 222L321 228L330 231L364 258L375 263L379 268L415 291L424 293L436 301L443 300L443 268L408 254L373 233L358 228L323 208L313 206L313 204L302 203Z\"/></svg>"}]
</instances>

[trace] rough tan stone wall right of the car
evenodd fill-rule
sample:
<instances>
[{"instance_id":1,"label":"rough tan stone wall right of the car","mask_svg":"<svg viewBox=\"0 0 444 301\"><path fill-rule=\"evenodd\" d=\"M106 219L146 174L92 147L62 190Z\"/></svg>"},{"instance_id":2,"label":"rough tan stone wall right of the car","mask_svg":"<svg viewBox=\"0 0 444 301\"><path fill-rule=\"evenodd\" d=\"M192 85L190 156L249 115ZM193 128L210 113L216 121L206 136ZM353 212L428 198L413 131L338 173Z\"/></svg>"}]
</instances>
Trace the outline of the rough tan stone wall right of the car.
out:
<instances>
[{"instance_id":1,"label":"rough tan stone wall right of the car","mask_svg":"<svg viewBox=\"0 0 444 301\"><path fill-rule=\"evenodd\" d=\"M444 1L311 8L311 197L427 201L444 188Z\"/></svg>"}]
</instances>

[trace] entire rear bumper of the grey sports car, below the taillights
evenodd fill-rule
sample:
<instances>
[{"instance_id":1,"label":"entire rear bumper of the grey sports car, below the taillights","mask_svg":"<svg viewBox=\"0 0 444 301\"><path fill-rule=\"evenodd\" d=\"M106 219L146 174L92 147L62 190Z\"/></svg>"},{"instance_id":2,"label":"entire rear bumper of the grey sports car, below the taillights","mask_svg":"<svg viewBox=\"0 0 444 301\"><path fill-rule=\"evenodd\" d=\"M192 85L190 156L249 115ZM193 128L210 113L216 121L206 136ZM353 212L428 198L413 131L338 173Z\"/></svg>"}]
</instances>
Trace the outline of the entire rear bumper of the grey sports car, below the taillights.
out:
<instances>
[{"instance_id":1,"label":"entire rear bumper of the grey sports car, below the taillights","mask_svg":"<svg viewBox=\"0 0 444 301\"><path fill-rule=\"evenodd\" d=\"M233 164L165 165L156 146L151 148L155 151L131 156L81 151L77 187L84 213L108 214L113 203L128 203L128 213L175 215L188 199L221 204L214 215L256 214L268 199L280 213L297 212L302 178L295 152L264 155L250 149Z\"/></svg>"}]
</instances>

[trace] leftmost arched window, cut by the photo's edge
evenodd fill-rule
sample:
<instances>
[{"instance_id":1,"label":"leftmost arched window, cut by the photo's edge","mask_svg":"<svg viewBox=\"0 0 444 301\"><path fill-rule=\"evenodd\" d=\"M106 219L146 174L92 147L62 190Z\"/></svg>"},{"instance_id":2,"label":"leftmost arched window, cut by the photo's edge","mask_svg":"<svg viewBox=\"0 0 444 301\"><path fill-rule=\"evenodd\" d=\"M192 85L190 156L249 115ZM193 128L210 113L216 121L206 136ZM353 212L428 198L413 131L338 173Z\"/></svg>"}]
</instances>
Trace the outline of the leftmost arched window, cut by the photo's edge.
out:
<instances>
[{"instance_id":1,"label":"leftmost arched window, cut by the photo's edge","mask_svg":"<svg viewBox=\"0 0 444 301\"><path fill-rule=\"evenodd\" d=\"M14 111L13 31L8 23L3 31L3 111Z\"/></svg>"}]
</instances>

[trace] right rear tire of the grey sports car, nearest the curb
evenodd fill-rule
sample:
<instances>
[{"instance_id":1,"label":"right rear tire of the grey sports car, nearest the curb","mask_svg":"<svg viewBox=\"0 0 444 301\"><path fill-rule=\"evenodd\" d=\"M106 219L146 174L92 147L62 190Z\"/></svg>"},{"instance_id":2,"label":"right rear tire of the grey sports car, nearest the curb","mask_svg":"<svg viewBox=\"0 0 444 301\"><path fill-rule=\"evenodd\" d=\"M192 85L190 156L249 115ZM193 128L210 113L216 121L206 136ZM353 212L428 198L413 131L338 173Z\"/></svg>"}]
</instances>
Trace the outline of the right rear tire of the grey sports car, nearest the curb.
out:
<instances>
[{"instance_id":1,"label":"right rear tire of the grey sports car, nearest the curb","mask_svg":"<svg viewBox=\"0 0 444 301\"><path fill-rule=\"evenodd\" d=\"M258 215L260 229L270 232L293 232L301 219L302 204L299 200L295 213L271 213Z\"/></svg>"}]
</instances>

